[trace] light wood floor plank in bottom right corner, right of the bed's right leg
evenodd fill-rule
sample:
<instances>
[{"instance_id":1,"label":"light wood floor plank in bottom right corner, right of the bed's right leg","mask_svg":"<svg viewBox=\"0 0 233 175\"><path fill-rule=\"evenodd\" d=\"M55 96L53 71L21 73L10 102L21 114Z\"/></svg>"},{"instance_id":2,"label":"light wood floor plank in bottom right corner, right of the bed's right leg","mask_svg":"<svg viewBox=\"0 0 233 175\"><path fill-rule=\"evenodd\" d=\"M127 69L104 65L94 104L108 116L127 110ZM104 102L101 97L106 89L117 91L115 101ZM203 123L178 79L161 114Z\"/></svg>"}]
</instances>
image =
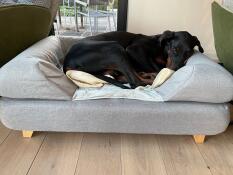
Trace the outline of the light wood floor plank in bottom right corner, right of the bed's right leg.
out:
<instances>
[{"instance_id":1,"label":"light wood floor plank in bottom right corner, right of the bed's right leg","mask_svg":"<svg viewBox=\"0 0 233 175\"><path fill-rule=\"evenodd\" d=\"M205 144L198 147L213 175L233 174L232 126L226 133L209 137Z\"/></svg>"}]
</instances>

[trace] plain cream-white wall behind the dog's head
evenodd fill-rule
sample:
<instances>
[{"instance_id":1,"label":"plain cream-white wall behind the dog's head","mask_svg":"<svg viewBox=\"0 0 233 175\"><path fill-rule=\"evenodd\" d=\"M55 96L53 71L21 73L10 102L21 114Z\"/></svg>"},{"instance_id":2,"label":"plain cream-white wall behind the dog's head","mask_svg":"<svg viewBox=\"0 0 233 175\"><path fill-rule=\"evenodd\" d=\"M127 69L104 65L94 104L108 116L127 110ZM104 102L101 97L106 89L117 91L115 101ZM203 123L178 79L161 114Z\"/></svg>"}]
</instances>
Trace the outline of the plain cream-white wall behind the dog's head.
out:
<instances>
[{"instance_id":1,"label":"plain cream-white wall behind the dog's head","mask_svg":"<svg viewBox=\"0 0 233 175\"><path fill-rule=\"evenodd\" d=\"M212 2L213 0L129 0L128 31L154 35L165 30L187 30L199 38L205 53L216 59Z\"/></svg>"}]
</instances>

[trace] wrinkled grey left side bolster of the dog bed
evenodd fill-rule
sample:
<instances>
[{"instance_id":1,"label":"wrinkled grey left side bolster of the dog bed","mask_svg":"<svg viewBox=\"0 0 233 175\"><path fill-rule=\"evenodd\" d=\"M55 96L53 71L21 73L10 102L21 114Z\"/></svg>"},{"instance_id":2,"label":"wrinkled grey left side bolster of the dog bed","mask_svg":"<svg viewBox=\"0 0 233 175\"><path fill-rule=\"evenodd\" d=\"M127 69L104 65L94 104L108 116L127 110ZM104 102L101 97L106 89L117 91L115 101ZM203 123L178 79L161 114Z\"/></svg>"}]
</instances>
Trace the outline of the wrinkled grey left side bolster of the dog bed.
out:
<instances>
[{"instance_id":1,"label":"wrinkled grey left side bolster of the dog bed","mask_svg":"<svg viewBox=\"0 0 233 175\"><path fill-rule=\"evenodd\" d=\"M77 87L59 69L63 58L60 40L56 37L31 46L0 69L0 96L70 100ZM55 80L58 82L54 83Z\"/></svg>"}]
</instances>

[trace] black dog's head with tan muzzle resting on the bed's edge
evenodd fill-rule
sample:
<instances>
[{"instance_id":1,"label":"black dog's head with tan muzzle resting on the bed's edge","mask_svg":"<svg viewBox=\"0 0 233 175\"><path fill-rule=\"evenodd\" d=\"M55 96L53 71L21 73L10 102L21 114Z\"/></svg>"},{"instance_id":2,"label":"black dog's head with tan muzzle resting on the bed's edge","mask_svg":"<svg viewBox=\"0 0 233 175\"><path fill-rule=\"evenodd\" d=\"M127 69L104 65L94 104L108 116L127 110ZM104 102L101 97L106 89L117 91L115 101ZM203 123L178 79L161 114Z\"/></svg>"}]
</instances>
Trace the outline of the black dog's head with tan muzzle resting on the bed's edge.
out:
<instances>
[{"instance_id":1,"label":"black dog's head with tan muzzle resting on the bed's edge","mask_svg":"<svg viewBox=\"0 0 233 175\"><path fill-rule=\"evenodd\" d=\"M193 55L195 46L198 46L201 53L204 52L198 38L185 31L165 31L159 37L159 42L167 58L166 67L175 71L184 66Z\"/></svg>"}]
</instances>

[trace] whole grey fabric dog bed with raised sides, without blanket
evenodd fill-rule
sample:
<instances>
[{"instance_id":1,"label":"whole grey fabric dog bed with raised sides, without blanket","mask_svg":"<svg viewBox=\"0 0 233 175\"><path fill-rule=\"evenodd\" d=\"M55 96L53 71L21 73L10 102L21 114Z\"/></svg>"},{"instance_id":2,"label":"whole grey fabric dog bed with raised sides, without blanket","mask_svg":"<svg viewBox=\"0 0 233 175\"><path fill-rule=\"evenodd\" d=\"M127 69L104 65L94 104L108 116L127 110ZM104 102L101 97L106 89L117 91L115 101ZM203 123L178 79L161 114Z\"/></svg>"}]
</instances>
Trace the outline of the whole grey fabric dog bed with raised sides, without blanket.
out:
<instances>
[{"instance_id":1,"label":"whole grey fabric dog bed with raised sides, without blanket","mask_svg":"<svg viewBox=\"0 0 233 175\"><path fill-rule=\"evenodd\" d=\"M0 69L3 124L32 131L186 135L215 135L227 128L233 77L204 55L190 59L156 89L166 102L72 101L77 87L60 68L78 40L48 37Z\"/></svg>"}]
</instances>

